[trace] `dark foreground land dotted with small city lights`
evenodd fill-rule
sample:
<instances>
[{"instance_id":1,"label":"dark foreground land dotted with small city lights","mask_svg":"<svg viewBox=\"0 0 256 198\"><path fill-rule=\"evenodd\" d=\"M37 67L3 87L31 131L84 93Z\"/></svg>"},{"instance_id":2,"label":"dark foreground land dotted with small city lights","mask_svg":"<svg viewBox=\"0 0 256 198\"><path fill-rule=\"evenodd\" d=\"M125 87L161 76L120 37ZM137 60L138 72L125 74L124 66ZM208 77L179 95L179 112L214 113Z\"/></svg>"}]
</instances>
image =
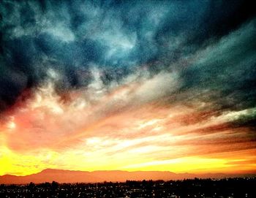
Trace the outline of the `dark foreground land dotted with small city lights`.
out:
<instances>
[{"instance_id":1,"label":"dark foreground land dotted with small city lights","mask_svg":"<svg viewBox=\"0 0 256 198\"><path fill-rule=\"evenodd\" d=\"M0 197L256 197L256 178L0 185Z\"/></svg>"}]
</instances>

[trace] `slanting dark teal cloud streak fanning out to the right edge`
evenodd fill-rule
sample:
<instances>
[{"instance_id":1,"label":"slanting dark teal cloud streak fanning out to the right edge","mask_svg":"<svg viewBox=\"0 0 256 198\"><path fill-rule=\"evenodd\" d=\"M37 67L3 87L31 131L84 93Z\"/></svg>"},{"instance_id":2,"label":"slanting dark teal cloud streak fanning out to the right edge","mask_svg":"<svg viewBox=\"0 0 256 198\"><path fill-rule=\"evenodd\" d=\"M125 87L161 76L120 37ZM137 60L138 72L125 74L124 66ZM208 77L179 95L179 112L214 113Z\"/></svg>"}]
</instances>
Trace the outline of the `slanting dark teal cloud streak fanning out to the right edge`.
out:
<instances>
[{"instance_id":1,"label":"slanting dark teal cloud streak fanning out to the right edge","mask_svg":"<svg viewBox=\"0 0 256 198\"><path fill-rule=\"evenodd\" d=\"M256 21L252 20L208 46L195 64L184 70L184 88L213 91L218 104L222 104L221 108L253 107L256 94L255 36Z\"/></svg>"}]
</instances>

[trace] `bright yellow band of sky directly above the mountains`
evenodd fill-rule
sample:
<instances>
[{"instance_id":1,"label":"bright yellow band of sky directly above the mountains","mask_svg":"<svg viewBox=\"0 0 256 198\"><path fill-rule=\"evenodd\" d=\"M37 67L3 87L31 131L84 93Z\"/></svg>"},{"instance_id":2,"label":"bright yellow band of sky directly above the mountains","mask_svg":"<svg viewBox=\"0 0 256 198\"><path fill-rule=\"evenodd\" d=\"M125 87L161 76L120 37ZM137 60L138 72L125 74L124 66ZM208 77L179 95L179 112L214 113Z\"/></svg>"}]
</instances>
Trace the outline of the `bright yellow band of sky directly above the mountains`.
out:
<instances>
[{"instance_id":1,"label":"bright yellow band of sky directly above the mountains","mask_svg":"<svg viewBox=\"0 0 256 198\"><path fill-rule=\"evenodd\" d=\"M61 169L61 170L157 170L157 171L171 171L176 173L239 173L239 172L251 172L255 170L255 164L242 164L242 166L236 165L236 163L247 159L238 159L244 152L236 153L238 156L233 156L233 159L213 159L203 156L184 157L177 159L150 161L150 159L138 157L135 161L129 160L129 157L119 154L115 158L110 159L108 156L97 153L94 157L94 153L86 153L90 159L86 159L84 153L67 151L64 153L56 153L53 151L45 151L45 153L37 154L23 154L13 153L7 148L1 148L0 157L0 175L30 175L40 172L47 168ZM248 154L248 153L247 153ZM252 156L249 156L252 157ZM86 165L85 165L86 164ZM127 165L129 164L129 165ZM238 171L239 170L239 171Z\"/></svg>"}]
</instances>

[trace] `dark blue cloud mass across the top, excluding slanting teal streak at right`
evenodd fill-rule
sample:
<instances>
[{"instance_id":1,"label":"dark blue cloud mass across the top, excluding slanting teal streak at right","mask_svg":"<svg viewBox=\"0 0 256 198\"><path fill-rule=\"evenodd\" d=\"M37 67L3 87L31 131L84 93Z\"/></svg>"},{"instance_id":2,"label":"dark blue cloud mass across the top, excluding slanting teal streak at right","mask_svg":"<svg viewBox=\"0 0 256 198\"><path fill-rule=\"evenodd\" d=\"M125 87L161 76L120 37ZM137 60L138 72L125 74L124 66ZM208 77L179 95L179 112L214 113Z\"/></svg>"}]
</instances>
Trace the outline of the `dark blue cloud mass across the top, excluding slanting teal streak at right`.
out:
<instances>
[{"instance_id":1,"label":"dark blue cloud mass across the top, excluding slanting teal streak at right","mask_svg":"<svg viewBox=\"0 0 256 198\"><path fill-rule=\"evenodd\" d=\"M245 6L236 1L224 13L226 4L214 1L2 1L1 65L14 75L22 73L26 82L12 88L11 99L11 94L4 96L7 91L1 91L1 108L13 104L24 86L44 81L49 67L63 73L62 87L68 89L87 85L90 76L80 80L79 74L91 64L108 74L104 83L120 80L145 64L151 65L153 73L172 69L172 63L200 50L208 40L215 41L238 27L243 21L233 18L237 13L251 18L251 12L238 12ZM187 75L195 74L189 69ZM8 78L1 83L2 89L4 83L15 84Z\"/></svg>"}]
</instances>

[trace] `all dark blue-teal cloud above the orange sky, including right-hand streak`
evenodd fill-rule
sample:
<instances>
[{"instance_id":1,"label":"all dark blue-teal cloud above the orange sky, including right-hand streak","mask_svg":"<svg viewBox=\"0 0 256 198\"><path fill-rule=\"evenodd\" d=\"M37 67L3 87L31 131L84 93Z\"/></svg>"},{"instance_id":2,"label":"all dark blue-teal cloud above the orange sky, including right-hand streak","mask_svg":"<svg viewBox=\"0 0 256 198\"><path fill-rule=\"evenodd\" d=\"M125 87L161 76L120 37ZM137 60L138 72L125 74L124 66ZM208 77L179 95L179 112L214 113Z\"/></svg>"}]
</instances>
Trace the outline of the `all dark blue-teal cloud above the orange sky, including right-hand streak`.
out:
<instances>
[{"instance_id":1,"label":"all dark blue-teal cloud above the orange sky, including right-hand streak","mask_svg":"<svg viewBox=\"0 0 256 198\"><path fill-rule=\"evenodd\" d=\"M152 75L178 69L181 91L218 91L220 108L255 105L249 1L1 1L0 13L1 110L48 69L69 89L88 85L91 66L102 69L105 84L140 66ZM205 49L200 60L176 64Z\"/></svg>"}]
</instances>

